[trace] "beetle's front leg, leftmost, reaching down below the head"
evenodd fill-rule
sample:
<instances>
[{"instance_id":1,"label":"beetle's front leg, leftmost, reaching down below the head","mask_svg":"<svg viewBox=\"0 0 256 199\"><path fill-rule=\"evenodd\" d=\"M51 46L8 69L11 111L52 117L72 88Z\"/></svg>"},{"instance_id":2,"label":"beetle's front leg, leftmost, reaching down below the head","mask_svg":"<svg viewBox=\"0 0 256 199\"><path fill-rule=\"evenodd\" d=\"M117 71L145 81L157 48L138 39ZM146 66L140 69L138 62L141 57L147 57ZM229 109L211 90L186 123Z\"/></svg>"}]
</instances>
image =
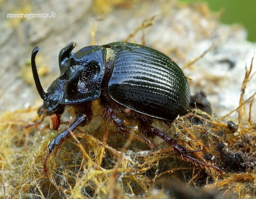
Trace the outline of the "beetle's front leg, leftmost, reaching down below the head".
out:
<instances>
[{"instance_id":1,"label":"beetle's front leg, leftmost, reaching down below the head","mask_svg":"<svg viewBox=\"0 0 256 199\"><path fill-rule=\"evenodd\" d=\"M62 142L64 142L69 137L71 137L71 135L69 133L70 131L74 131L76 128L78 128L78 126L83 126L87 122L88 122L88 118L87 118L86 114L78 114L76 116L76 119L73 121L73 123L71 123L71 125L69 125L69 128L67 128L66 130L64 130L61 133L59 133L59 135L57 135L50 142L50 144L48 145L48 150L49 151L48 151L48 153L47 153L47 155L45 157L45 161L44 161L44 165L43 165L43 169L45 171L45 175L47 175L46 162L47 162L48 157L52 153L52 150L54 149L54 147L62 144Z\"/></svg>"}]
</instances>

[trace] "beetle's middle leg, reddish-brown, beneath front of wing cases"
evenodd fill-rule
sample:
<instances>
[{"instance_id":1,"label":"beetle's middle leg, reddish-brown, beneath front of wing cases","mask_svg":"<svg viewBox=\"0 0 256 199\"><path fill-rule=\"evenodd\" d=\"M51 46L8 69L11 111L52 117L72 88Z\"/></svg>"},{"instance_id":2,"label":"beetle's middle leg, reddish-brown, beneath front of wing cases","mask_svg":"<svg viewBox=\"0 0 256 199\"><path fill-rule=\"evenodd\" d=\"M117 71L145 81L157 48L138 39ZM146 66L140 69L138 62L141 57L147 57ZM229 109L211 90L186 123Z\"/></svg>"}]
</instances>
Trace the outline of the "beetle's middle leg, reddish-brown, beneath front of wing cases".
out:
<instances>
[{"instance_id":1,"label":"beetle's middle leg, reddish-brown, beneath front of wing cases","mask_svg":"<svg viewBox=\"0 0 256 199\"><path fill-rule=\"evenodd\" d=\"M132 129L135 129L134 127L131 127L131 126L125 126L124 125L124 121L121 120L118 115L116 114L116 112L111 109L109 106L105 106L107 108L107 114L109 114L111 116L111 119L112 121L114 122L114 124L116 125L117 127L117 130L118 132L123 135L123 137L126 137L126 134L125 133L129 133L129 134L132 134L134 137L136 137L138 140L141 140L142 142L145 142L149 147L150 149L154 149L154 145L152 144L152 142L147 139L146 137L141 137L140 135L136 135L135 133L132 133L130 130L128 130L127 128L132 128Z\"/></svg>"}]
</instances>

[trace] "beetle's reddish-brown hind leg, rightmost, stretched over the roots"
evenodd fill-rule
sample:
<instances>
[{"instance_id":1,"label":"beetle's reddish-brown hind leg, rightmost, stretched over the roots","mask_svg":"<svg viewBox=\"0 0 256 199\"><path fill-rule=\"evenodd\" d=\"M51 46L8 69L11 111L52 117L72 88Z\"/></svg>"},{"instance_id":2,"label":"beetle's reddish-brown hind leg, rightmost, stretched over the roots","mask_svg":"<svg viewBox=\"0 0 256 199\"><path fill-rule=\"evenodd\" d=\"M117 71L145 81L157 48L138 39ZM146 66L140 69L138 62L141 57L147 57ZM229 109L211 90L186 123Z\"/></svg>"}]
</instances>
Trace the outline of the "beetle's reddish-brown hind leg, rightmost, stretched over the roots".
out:
<instances>
[{"instance_id":1,"label":"beetle's reddish-brown hind leg, rightmost, stretched over the roots","mask_svg":"<svg viewBox=\"0 0 256 199\"><path fill-rule=\"evenodd\" d=\"M207 163L204 163L198 159L195 159L189 155L187 155L187 153L190 152L199 152L202 151L201 149L199 150L192 150L192 151L188 151L187 149L185 149L183 146L179 145L176 140L172 139L171 137L165 135L164 133L162 133L161 131L159 131L157 128L153 127L153 126L145 126L142 128L142 133L154 138L155 136L161 137L164 141L166 141L175 152L177 152L183 159L185 159L186 161L190 161L192 163L194 163L197 166L200 166L201 168L213 168L216 171L218 171L218 173L221 174L221 170L220 168L218 168L217 166L212 166L209 165Z\"/></svg>"}]
</instances>

